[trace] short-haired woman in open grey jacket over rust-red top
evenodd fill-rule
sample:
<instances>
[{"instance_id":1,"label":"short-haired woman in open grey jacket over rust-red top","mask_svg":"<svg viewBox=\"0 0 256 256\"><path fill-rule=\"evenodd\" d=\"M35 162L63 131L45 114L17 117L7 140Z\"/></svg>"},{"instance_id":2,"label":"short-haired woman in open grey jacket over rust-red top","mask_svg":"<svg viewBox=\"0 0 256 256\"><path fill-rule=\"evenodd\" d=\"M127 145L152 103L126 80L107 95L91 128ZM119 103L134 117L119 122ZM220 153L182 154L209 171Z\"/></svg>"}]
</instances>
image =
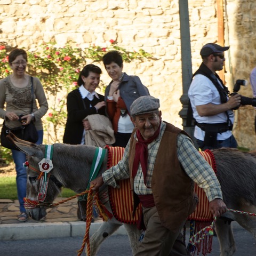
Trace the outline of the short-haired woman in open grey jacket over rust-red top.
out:
<instances>
[{"instance_id":1,"label":"short-haired woman in open grey jacket over rust-red top","mask_svg":"<svg viewBox=\"0 0 256 256\"><path fill-rule=\"evenodd\" d=\"M113 146L125 147L134 128L130 119L132 102L149 91L138 76L123 73L123 58L120 52L110 51L103 56L103 63L112 81L105 91L107 114L115 131Z\"/></svg>"}]
</instances>

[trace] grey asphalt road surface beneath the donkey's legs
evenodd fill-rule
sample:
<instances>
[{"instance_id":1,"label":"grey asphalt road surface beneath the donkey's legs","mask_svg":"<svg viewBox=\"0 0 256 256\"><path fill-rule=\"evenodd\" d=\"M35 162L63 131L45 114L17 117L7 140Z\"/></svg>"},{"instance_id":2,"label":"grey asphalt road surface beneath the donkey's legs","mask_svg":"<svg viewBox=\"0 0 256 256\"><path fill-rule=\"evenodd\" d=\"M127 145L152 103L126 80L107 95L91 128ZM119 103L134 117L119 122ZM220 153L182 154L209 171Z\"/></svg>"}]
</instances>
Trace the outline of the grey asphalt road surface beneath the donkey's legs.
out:
<instances>
[{"instance_id":1,"label":"grey asphalt road surface beneath the donkey's legs","mask_svg":"<svg viewBox=\"0 0 256 256\"><path fill-rule=\"evenodd\" d=\"M237 251L234 256L255 256L256 244L250 233L234 225ZM83 237L55 239L34 239L25 241L0 241L0 255L3 256L76 256ZM85 255L84 253L82 255ZM129 240L125 235L109 237L100 247L97 256L131 256ZM202 254L200 254L202 255ZM219 256L219 243L213 237L213 251L209 256Z\"/></svg>"}]
</instances>

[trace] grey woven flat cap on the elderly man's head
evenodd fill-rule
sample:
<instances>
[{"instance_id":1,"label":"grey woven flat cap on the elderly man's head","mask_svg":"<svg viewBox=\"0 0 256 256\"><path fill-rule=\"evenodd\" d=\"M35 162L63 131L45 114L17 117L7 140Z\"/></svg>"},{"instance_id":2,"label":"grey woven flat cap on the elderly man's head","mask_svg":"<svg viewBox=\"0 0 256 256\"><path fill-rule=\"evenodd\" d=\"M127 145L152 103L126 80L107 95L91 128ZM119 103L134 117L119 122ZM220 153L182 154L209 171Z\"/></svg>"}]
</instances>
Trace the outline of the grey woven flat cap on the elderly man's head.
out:
<instances>
[{"instance_id":1,"label":"grey woven flat cap on the elderly man's head","mask_svg":"<svg viewBox=\"0 0 256 256\"><path fill-rule=\"evenodd\" d=\"M150 95L141 96L138 99L133 101L130 108L131 116L138 116L142 114L152 113L158 110L159 107L160 107L159 99L156 99Z\"/></svg>"}]
</instances>

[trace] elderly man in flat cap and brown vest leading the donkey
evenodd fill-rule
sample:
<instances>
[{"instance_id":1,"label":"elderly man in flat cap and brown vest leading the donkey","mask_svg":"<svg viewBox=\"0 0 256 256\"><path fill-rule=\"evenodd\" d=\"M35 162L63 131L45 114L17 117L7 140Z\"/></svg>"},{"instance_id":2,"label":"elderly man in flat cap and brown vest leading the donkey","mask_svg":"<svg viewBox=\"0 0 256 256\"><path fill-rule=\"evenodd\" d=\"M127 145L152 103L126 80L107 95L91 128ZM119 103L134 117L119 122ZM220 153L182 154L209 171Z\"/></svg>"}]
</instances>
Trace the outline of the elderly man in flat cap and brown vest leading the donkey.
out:
<instances>
[{"instance_id":1,"label":"elderly man in flat cap and brown vest leading the donkey","mask_svg":"<svg viewBox=\"0 0 256 256\"><path fill-rule=\"evenodd\" d=\"M130 178L134 205L142 203L146 231L136 256L190 255L180 233L196 207L194 182L202 187L214 216L226 211L220 184L189 136L163 122L159 100L142 96L131 105L135 129L121 161L91 182L94 190L103 183Z\"/></svg>"}]
</instances>

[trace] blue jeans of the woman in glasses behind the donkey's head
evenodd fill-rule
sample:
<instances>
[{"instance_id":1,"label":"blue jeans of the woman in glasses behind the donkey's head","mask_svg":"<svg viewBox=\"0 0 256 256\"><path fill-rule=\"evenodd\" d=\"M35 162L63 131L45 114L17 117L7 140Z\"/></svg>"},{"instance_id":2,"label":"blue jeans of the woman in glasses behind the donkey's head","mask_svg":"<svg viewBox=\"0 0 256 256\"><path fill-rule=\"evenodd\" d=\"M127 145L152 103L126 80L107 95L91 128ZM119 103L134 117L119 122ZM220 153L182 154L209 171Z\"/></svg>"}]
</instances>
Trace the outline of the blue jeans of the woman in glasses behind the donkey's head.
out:
<instances>
[{"instance_id":1,"label":"blue jeans of the woman in glasses behind the donkey's head","mask_svg":"<svg viewBox=\"0 0 256 256\"><path fill-rule=\"evenodd\" d=\"M42 144L43 143L43 130L37 131L38 133L38 140L36 144ZM12 150L12 158L15 164L16 169L16 184L17 184L17 193L18 193L18 199L20 203L20 212L26 212L26 209L24 207L24 201L23 198L26 197L27 194L27 171L25 167L23 166L23 163L26 162L26 154L19 151L19 150Z\"/></svg>"}]
</instances>

